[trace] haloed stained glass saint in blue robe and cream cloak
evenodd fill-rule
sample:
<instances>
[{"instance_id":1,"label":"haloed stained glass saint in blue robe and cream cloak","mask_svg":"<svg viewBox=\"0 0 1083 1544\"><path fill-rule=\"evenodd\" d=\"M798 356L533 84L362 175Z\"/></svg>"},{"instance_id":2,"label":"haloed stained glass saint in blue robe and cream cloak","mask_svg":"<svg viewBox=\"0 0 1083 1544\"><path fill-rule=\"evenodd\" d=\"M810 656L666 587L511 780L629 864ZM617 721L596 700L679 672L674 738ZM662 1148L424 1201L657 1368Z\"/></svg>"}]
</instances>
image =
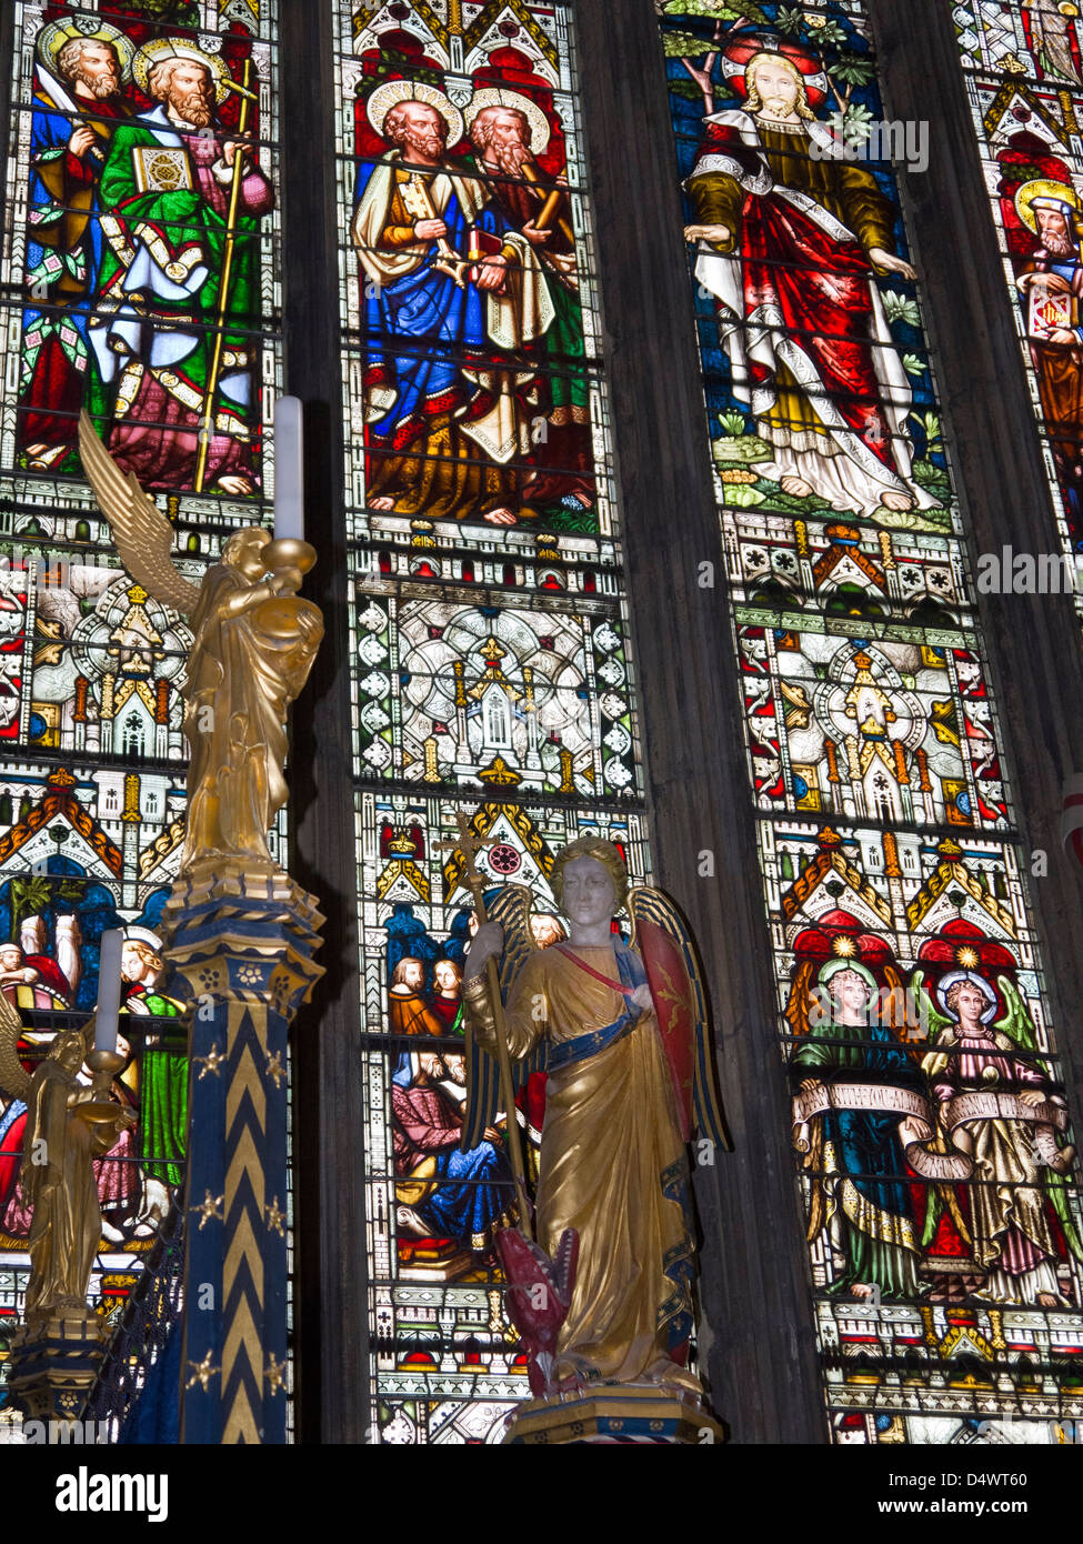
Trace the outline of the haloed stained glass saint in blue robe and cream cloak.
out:
<instances>
[{"instance_id":1,"label":"haloed stained glass saint in blue robe and cream cloak","mask_svg":"<svg viewBox=\"0 0 1083 1544\"><path fill-rule=\"evenodd\" d=\"M462 114L433 88L388 82L368 103L394 147L362 167L352 236L365 275L366 499L371 510L513 525L536 369L553 321L530 239L448 159ZM514 278L514 283L513 283Z\"/></svg>"}]
</instances>

